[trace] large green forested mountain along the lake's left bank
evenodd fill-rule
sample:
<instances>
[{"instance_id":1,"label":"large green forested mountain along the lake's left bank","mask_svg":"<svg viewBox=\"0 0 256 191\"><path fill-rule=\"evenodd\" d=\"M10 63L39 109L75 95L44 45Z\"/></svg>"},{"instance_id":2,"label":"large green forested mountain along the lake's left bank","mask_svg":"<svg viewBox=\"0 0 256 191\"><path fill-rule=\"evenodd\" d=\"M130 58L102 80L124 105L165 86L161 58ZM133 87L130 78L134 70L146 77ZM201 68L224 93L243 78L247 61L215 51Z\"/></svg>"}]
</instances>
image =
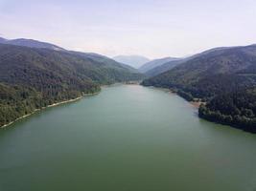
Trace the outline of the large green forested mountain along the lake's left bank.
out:
<instances>
[{"instance_id":1,"label":"large green forested mountain along the lake's left bank","mask_svg":"<svg viewBox=\"0 0 256 191\"><path fill-rule=\"evenodd\" d=\"M0 44L0 126L102 84L141 77L99 54Z\"/></svg>"}]
</instances>

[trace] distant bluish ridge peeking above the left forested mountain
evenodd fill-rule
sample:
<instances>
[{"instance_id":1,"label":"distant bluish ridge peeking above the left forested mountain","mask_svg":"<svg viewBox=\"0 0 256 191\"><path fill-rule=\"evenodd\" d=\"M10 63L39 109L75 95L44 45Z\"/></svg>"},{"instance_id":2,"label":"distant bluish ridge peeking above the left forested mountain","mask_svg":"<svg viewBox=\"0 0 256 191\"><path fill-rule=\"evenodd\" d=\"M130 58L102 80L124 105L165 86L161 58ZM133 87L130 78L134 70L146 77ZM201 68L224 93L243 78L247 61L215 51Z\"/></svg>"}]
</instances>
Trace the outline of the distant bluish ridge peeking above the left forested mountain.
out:
<instances>
[{"instance_id":1,"label":"distant bluish ridge peeking above the left forested mountain","mask_svg":"<svg viewBox=\"0 0 256 191\"><path fill-rule=\"evenodd\" d=\"M18 39L5 39L0 37L0 43L9 44L9 45L16 45L16 46L23 46L23 47L30 47L30 48L41 48L41 49L51 49L55 51L65 51L63 48L58 47L57 45L41 42L33 39L25 39L25 38L18 38Z\"/></svg>"}]
</instances>

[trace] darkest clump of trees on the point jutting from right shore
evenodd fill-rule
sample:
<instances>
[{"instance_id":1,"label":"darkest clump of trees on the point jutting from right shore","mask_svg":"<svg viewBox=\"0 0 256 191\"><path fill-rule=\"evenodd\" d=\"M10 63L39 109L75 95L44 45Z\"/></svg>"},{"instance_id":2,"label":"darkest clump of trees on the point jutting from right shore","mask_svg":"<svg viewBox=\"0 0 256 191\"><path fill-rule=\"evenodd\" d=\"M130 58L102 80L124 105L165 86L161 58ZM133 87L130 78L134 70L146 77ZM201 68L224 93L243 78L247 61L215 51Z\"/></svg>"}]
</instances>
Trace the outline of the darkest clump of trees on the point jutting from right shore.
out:
<instances>
[{"instance_id":1,"label":"darkest clump of trees on the point jutting from right shore","mask_svg":"<svg viewBox=\"0 0 256 191\"><path fill-rule=\"evenodd\" d=\"M216 96L199 107L198 115L256 133L256 88Z\"/></svg>"}]
</instances>

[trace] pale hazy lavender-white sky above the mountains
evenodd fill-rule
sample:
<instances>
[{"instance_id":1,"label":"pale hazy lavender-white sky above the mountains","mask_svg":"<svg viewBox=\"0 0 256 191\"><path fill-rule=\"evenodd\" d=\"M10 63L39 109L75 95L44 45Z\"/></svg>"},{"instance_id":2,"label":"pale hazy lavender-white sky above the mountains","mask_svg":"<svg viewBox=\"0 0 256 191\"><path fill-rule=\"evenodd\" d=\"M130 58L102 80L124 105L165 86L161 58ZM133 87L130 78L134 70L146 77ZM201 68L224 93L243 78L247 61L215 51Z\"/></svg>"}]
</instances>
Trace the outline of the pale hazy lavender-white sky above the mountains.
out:
<instances>
[{"instance_id":1,"label":"pale hazy lavender-white sky above the mountains","mask_svg":"<svg viewBox=\"0 0 256 191\"><path fill-rule=\"evenodd\" d=\"M0 36L110 57L181 57L255 44L256 0L0 0Z\"/></svg>"}]
</instances>

